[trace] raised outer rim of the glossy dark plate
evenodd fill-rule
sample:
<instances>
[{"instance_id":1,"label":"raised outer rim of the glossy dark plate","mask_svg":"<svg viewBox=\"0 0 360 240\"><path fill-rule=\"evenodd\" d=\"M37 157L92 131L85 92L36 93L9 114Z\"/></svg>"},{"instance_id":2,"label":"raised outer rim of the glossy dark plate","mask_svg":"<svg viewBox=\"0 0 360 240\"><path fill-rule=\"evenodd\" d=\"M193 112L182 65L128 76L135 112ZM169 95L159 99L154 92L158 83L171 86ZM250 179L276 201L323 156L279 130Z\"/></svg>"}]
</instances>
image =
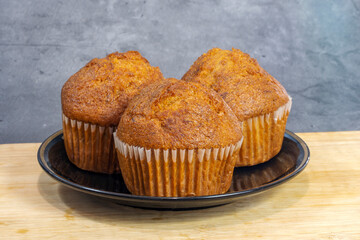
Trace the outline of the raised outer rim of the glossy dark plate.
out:
<instances>
[{"instance_id":1,"label":"raised outer rim of the glossy dark plate","mask_svg":"<svg viewBox=\"0 0 360 240\"><path fill-rule=\"evenodd\" d=\"M57 180L58 182L66 185L67 187L70 187L74 190L85 192L88 194L100 196L100 197L106 197L111 198L115 200L132 200L136 202L193 202L193 201L215 201L215 200L223 200L223 199L237 199L240 197L244 197L247 195L255 195L258 193L261 193L265 190L272 189L275 186L278 186L295 176L297 176L300 172L302 172L305 167L308 165L308 162L310 160L310 149L305 143L303 139L301 139L298 135L296 135L294 132L289 131L288 129L285 130L284 138L286 135L290 136L290 140L294 141L297 145L300 145L303 149L304 156L299 164L299 166L296 166L296 168L291 171L290 173L286 174L285 176L282 176L280 178L277 178L276 180L273 180L269 183L263 184L261 186L258 186L256 188L246 189L243 191L236 191L231 193L224 193L224 194L216 194L216 195L207 195L207 196L192 196L192 197L153 197L153 196L141 196L141 195L133 195L131 193L117 193L112 191L105 191L105 190L99 190L91 187L86 187L80 184L77 184L75 182L69 181L65 179L63 176L57 174L47 163L45 160L45 153L48 148L50 148L55 142L53 143L53 140L57 137L60 137L60 135L63 134L63 130L60 129L56 131L55 133L51 134L49 137L47 137L40 145L38 152L37 152L37 158L40 166L42 169L53 179ZM52 145L50 145L52 143Z\"/></svg>"}]
</instances>

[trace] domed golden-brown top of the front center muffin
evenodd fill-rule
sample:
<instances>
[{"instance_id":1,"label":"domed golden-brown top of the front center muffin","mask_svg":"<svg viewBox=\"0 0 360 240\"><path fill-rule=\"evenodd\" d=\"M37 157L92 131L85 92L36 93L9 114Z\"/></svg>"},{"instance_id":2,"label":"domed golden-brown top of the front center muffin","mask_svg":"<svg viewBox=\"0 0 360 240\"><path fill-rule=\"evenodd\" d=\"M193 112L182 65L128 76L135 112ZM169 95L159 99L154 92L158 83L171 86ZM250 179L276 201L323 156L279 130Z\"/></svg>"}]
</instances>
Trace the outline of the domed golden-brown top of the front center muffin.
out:
<instances>
[{"instance_id":1,"label":"domed golden-brown top of the front center muffin","mask_svg":"<svg viewBox=\"0 0 360 240\"><path fill-rule=\"evenodd\" d=\"M129 102L116 134L129 145L153 149L217 148L242 137L235 114L216 92L176 79L142 89Z\"/></svg>"}]
</instances>

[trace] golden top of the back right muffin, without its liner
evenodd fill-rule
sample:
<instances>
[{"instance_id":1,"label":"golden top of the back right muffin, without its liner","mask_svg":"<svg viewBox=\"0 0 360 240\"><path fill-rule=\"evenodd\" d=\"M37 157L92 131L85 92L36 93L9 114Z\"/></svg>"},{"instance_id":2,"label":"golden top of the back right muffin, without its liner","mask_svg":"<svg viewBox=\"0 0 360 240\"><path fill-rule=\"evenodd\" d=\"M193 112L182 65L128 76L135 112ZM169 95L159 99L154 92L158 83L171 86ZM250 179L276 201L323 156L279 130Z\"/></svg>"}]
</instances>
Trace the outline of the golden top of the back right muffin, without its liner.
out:
<instances>
[{"instance_id":1,"label":"golden top of the back right muffin, without its liner","mask_svg":"<svg viewBox=\"0 0 360 240\"><path fill-rule=\"evenodd\" d=\"M289 101L285 88L256 59L238 49L209 50L182 79L214 89L240 121L274 112Z\"/></svg>"}]
</instances>

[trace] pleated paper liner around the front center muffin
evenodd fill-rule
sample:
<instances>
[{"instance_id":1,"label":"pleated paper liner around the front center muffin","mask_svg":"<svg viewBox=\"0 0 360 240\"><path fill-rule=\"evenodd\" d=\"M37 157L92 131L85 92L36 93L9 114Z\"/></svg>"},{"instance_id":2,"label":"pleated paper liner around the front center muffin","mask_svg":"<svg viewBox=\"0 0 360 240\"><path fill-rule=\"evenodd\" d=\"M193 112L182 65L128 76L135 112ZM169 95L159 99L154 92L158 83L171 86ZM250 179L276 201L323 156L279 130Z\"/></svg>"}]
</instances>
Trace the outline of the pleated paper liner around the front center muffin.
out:
<instances>
[{"instance_id":1,"label":"pleated paper liner around the front center muffin","mask_svg":"<svg viewBox=\"0 0 360 240\"><path fill-rule=\"evenodd\" d=\"M115 148L125 184L136 195L185 197L225 193L242 139L210 149L146 149L122 142Z\"/></svg>"}]
</instances>

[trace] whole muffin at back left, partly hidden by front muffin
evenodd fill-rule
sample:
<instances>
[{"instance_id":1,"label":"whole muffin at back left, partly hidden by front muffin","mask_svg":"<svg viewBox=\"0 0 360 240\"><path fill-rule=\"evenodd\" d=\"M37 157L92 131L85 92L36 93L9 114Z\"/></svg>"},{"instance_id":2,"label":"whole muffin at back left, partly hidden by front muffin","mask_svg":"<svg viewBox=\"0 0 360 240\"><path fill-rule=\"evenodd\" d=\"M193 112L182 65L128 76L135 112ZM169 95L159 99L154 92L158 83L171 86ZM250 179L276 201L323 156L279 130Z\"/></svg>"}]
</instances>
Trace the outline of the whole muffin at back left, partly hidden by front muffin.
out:
<instances>
[{"instance_id":1,"label":"whole muffin at back left, partly hidden by front muffin","mask_svg":"<svg viewBox=\"0 0 360 240\"><path fill-rule=\"evenodd\" d=\"M159 68L136 51L95 58L72 75L61 91L69 160L83 170L119 172L113 132L128 101L142 87L161 80Z\"/></svg>"}]
</instances>

